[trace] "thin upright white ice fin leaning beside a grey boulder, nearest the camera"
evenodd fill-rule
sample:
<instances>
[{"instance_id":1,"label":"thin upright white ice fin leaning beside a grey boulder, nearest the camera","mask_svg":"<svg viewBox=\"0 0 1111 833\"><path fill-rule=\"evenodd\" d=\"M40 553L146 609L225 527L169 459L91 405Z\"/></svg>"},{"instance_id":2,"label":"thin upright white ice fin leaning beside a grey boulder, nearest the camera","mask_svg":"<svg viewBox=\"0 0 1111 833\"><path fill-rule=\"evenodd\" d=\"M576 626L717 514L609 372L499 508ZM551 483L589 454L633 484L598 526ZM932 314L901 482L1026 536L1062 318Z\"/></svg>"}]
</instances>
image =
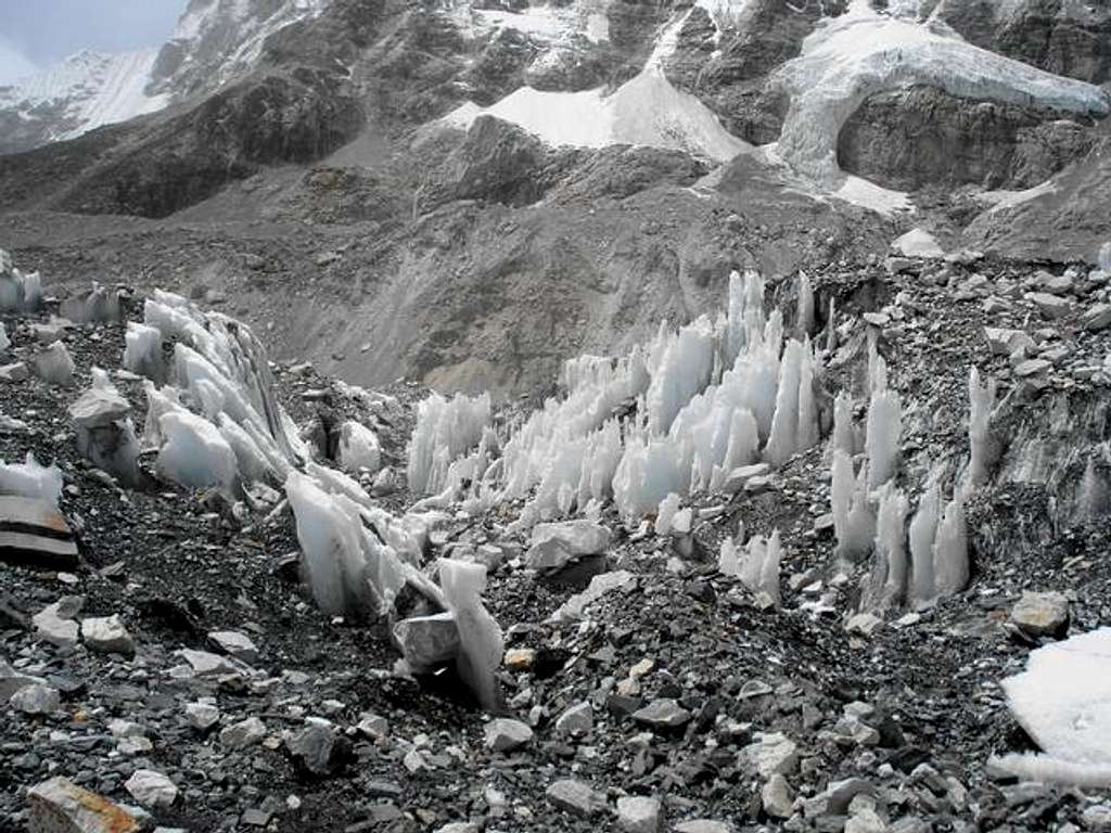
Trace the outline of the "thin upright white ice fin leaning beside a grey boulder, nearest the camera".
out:
<instances>
[{"instance_id":1,"label":"thin upright white ice fin leaning beside a grey boulder, nearest the camera","mask_svg":"<svg viewBox=\"0 0 1111 833\"><path fill-rule=\"evenodd\" d=\"M459 629L460 652L456 660L459 676L483 709L497 712L502 705L497 673L506 644L501 628L482 604L486 568L440 559L440 586Z\"/></svg>"}]
</instances>

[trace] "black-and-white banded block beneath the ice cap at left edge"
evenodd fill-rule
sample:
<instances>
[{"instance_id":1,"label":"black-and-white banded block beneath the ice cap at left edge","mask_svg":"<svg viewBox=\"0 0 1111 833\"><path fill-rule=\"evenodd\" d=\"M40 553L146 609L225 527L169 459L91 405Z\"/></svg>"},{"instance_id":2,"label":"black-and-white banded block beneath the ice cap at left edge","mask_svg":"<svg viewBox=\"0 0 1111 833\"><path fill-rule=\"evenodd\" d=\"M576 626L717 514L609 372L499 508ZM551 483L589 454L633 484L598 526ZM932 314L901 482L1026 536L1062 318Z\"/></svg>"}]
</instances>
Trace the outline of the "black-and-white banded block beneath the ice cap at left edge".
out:
<instances>
[{"instance_id":1,"label":"black-and-white banded block beneath the ice cap at left edge","mask_svg":"<svg viewBox=\"0 0 1111 833\"><path fill-rule=\"evenodd\" d=\"M44 500L0 495L0 561L51 570L79 564L73 533Z\"/></svg>"}]
</instances>

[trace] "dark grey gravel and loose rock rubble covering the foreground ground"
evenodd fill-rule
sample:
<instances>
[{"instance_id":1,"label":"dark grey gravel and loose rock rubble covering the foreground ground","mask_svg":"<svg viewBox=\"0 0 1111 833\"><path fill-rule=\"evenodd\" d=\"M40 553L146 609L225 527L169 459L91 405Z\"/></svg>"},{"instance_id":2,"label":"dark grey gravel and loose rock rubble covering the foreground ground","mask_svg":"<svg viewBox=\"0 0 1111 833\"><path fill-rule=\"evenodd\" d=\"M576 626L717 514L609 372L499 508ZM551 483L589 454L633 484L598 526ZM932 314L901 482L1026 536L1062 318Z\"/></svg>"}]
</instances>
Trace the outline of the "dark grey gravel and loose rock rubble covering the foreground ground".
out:
<instances>
[{"instance_id":1,"label":"dark grey gravel and loose rock rubble covering the foreground ground","mask_svg":"<svg viewBox=\"0 0 1111 833\"><path fill-rule=\"evenodd\" d=\"M999 380L997 475L969 505L971 586L927 610L888 611L870 635L850 632L867 565L842 574L834 563L832 531L820 520L829 511L821 448L790 461L761 493L694 499L705 510L694 556L679 558L650 524L625 529L604 510L614 531L605 566L629 576L570 622L551 616L581 584L541 580L512 558L523 542L504 528L519 506L454 518L433 535L430 563L447 542L498 543L510 554L487 602L508 648L521 650L500 672L503 716L529 724L532 736L502 751L486 742L491 715L450 670L400 674L387 623L316 609L291 569L298 543L288 511L237 520L213 495L167 483L123 490L83 462L66 408L91 367L119 368L123 329L69 330L73 388L0 382L0 411L29 426L0 431L0 458L32 450L61 466L61 509L82 555L72 574L0 563L0 659L61 692L46 714L4 706L0 830L24 829L27 789L52 775L134 804L124 784L137 770L163 773L179 791L172 806L151 809L157 822L192 831L434 831L451 822L653 830L637 826L630 796L659 800L667 829L692 820L730 826L687 830L1101 829L1107 792L1017 784L988 759L1032 747L999 688L1038 644L1008 624L1022 591L1063 592L1072 634L1111 624L1109 508L1097 501L1084 514L1077 486L1087 454L1109 439L1107 375L1088 369L1103 364L1111 339L1082 327L1108 288L1074 274L1064 293L1073 305L1047 321L1023 297L1043 280L1032 267L888 265L814 277L822 310L835 299L844 322L824 383L863 401L863 335L873 327L903 398L900 482L917 499L927 459L967 454L970 365ZM790 308L789 285L777 294ZM34 320L4 323L14 359L3 362L33 352ZM985 324L1030 333L1032 355L1055 361L1019 377L1008 357L990 354ZM300 424L322 409L362 419L403 470L423 390L398 382L381 391L396 404L369 409L309 368L280 365L276 379ZM141 421L141 384L118 384ZM511 415L507 408L503 419ZM1039 463L1041 483L1011 476L1031 438L1073 450ZM1105 482L1105 458L1095 469ZM411 500L401 489L383 503L400 511ZM782 533L780 611L761 610L717 571L718 545L739 519L752 532ZM83 598L79 618L119 614L134 655L39 638L30 615L64 595ZM221 653L208 636L217 631L248 635L257 658L187 670L178 652ZM219 710L207 731L186 710L202 700ZM652 703L672 725L638 713ZM337 732L323 774L291 752L312 716ZM240 725L248 719L261 727ZM553 797L552 785L569 779L593 793ZM854 781L838 783L847 779Z\"/></svg>"}]
</instances>

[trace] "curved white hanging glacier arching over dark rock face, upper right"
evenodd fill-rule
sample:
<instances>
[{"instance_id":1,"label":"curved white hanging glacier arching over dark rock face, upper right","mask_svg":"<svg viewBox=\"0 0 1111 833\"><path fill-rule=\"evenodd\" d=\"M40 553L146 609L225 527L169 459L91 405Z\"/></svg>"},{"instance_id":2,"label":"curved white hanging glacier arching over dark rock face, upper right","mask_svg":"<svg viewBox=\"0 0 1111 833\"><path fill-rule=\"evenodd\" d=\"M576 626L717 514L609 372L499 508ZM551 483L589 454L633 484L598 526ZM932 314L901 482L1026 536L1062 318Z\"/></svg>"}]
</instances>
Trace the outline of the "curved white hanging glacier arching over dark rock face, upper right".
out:
<instances>
[{"instance_id":1,"label":"curved white hanging glacier arching over dark rock face, upper right","mask_svg":"<svg viewBox=\"0 0 1111 833\"><path fill-rule=\"evenodd\" d=\"M827 18L802 53L774 73L790 97L778 153L795 171L832 184L841 128L870 96L914 84L950 94L1102 117L1102 90L972 46L951 31L871 10Z\"/></svg>"}]
</instances>

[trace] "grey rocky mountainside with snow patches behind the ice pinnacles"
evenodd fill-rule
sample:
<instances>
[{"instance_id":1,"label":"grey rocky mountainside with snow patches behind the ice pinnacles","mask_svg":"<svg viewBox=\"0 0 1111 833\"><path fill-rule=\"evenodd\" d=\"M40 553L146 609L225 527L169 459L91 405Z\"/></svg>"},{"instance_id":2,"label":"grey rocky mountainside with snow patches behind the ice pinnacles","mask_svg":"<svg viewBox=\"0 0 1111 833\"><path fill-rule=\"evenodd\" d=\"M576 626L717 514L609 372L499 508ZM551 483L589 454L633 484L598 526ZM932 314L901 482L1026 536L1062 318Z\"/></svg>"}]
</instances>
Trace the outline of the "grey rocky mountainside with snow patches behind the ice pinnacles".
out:
<instances>
[{"instance_id":1,"label":"grey rocky mountainside with snow patches behind the ice pinnacles","mask_svg":"<svg viewBox=\"0 0 1111 833\"><path fill-rule=\"evenodd\" d=\"M1107 11L993 9L192 3L143 88L169 109L0 157L7 239L59 278L118 270L102 251L216 279L352 381L502 393L707 311L730 269L913 227L1090 262ZM58 212L149 222L89 247Z\"/></svg>"}]
</instances>

